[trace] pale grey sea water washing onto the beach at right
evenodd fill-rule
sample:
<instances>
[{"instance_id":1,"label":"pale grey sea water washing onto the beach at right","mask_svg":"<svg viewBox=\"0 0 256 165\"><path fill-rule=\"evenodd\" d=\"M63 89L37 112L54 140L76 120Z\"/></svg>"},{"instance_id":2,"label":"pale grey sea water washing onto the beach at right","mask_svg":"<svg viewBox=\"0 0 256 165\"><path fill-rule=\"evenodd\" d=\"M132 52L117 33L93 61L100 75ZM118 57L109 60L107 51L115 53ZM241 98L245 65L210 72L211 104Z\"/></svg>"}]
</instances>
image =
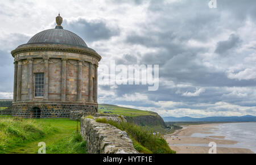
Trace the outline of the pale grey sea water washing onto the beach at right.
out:
<instances>
[{"instance_id":1,"label":"pale grey sea water washing onto the beach at right","mask_svg":"<svg viewBox=\"0 0 256 165\"><path fill-rule=\"evenodd\" d=\"M237 141L238 143L218 145L218 147L250 149L256 153L256 122L213 124L213 128L209 131L212 134L194 133L192 137L225 136L224 139Z\"/></svg>"}]
</instances>

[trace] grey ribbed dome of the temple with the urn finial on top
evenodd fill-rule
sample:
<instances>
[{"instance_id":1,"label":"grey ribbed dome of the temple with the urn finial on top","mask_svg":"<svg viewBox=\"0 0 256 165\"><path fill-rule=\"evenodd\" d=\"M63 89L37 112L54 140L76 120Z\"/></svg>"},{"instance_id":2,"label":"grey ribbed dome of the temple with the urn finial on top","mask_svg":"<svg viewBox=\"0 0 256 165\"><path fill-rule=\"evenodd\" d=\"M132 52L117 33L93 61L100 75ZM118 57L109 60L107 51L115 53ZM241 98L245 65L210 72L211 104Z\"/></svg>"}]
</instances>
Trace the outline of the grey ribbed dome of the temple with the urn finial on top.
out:
<instances>
[{"instance_id":1,"label":"grey ribbed dome of the temple with the urn finial on top","mask_svg":"<svg viewBox=\"0 0 256 165\"><path fill-rule=\"evenodd\" d=\"M85 41L81 37L77 36L71 31L63 29L61 26L62 18L59 16L56 17L57 26L55 29L48 29L42 31L33 36L27 44L63 44L63 45L73 45L73 46L82 46L88 48Z\"/></svg>"}]
</instances>

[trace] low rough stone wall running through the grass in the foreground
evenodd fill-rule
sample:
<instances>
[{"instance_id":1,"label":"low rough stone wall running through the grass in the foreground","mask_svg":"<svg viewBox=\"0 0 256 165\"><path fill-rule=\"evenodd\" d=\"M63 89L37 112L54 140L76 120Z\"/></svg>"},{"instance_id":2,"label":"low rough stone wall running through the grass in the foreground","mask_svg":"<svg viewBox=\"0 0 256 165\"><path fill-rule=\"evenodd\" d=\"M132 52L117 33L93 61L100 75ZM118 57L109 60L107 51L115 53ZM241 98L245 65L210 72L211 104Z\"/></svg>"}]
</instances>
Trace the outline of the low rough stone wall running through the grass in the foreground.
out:
<instances>
[{"instance_id":1,"label":"low rough stone wall running through the grass in the foreground","mask_svg":"<svg viewBox=\"0 0 256 165\"><path fill-rule=\"evenodd\" d=\"M110 124L82 117L80 126L90 154L138 154L128 134Z\"/></svg>"}]
</instances>

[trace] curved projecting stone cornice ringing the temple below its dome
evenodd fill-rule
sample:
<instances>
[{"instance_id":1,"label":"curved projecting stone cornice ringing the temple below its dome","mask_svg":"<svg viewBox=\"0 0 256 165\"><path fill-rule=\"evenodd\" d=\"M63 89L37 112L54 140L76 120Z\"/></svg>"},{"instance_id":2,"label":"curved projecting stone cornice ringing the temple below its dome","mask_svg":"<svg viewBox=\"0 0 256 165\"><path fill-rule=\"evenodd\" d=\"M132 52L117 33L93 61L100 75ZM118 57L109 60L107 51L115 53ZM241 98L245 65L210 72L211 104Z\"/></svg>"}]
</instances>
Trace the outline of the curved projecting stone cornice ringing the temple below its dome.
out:
<instances>
[{"instance_id":1,"label":"curved projecting stone cornice ringing the temple below its dome","mask_svg":"<svg viewBox=\"0 0 256 165\"><path fill-rule=\"evenodd\" d=\"M69 52L86 54L92 57L96 57L98 61L101 60L101 56L93 49L84 48L80 46L61 45L61 44L24 44L18 46L15 50L11 51L13 57L16 54L23 52L38 52L38 51L54 51L54 52Z\"/></svg>"}]
</instances>

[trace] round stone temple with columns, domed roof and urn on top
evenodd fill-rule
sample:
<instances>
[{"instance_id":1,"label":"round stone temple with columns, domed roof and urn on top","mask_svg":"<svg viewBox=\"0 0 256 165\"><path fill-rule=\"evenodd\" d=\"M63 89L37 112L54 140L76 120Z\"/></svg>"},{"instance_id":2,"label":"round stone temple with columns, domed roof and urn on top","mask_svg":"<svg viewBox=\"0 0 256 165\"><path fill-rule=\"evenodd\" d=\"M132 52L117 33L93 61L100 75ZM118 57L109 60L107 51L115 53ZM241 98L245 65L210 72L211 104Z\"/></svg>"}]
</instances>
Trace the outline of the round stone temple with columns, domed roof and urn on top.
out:
<instances>
[{"instance_id":1,"label":"round stone temple with columns, domed roof and urn on top","mask_svg":"<svg viewBox=\"0 0 256 165\"><path fill-rule=\"evenodd\" d=\"M14 115L64 118L71 111L98 111L101 56L81 37L63 29L62 21L57 16L54 29L37 33L11 52L15 61Z\"/></svg>"}]
</instances>

